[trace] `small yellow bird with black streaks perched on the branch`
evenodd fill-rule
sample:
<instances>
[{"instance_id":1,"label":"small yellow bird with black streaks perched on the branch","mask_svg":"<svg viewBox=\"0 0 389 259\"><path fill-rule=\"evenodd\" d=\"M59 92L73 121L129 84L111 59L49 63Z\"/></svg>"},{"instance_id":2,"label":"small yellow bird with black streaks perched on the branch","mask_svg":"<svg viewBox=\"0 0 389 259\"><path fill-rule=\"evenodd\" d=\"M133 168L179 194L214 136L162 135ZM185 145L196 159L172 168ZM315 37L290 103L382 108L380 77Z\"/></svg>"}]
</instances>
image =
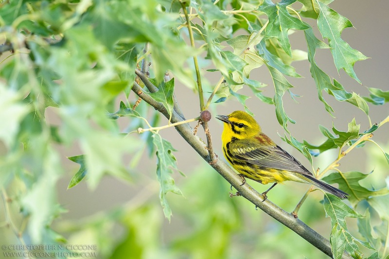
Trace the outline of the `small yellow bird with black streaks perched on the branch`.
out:
<instances>
[{"instance_id":1,"label":"small yellow bird with black streaks perched on the branch","mask_svg":"<svg viewBox=\"0 0 389 259\"><path fill-rule=\"evenodd\" d=\"M228 116L218 115L216 118L224 122L224 156L242 177L242 185L246 182L245 177L262 184L274 183L262 193L264 201L266 193L283 181L313 184L342 199L349 195L316 179L296 158L267 137L247 112L234 111Z\"/></svg>"}]
</instances>

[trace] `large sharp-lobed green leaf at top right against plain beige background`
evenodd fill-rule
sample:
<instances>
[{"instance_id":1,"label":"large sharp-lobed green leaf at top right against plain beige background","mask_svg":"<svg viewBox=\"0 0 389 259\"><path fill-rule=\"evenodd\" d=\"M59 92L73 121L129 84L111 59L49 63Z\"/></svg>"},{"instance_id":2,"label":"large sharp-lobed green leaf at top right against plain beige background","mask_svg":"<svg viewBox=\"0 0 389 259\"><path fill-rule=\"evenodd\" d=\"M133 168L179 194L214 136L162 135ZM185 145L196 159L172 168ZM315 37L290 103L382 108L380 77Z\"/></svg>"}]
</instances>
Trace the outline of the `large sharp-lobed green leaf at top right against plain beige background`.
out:
<instances>
[{"instance_id":1,"label":"large sharp-lobed green leaf at top right against plain beige background","mask_svg":"<svg viewBox=\"0 0 389 259\"><path fill-rule=\"evenodd\" d=\"M354 64L358 60L365 60L367 57L361 52L354 50L341 37L341 33L348 27L353 27L349 19L339 15L326 4L318 1L320 14L318 16L318 29L323 38L328 39L331 52L334 57L336 69L344 71L354 78L358 83L361 81L356 77Z\"/></svg>"}]
</instances>

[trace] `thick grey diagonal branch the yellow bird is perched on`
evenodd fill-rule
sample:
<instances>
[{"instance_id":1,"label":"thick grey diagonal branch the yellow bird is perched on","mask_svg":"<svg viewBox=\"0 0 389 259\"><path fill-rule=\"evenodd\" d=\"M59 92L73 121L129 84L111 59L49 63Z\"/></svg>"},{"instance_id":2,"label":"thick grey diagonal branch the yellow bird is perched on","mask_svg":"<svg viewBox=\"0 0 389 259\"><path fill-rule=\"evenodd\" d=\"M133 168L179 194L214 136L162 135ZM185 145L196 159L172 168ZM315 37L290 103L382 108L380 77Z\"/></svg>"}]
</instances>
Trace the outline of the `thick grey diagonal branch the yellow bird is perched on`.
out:
<instances>
[{"instance_id":1,"label":"thick grey diagonal branch the yellow bird is perched on","mask_svg":"<svg viewBox=\"0 0 389 259\"><path fill-rule=\"evenodd\" d=\"M132 87L132 90L146 103L152 105L156 110L161 112L166 118L170 117L169 113L162 104L142 92L141 86L135 83ZM176 123L178 121L182 121L182 119L176 111L173 111L171 122ZM201 138L193 134L193 129L189 125L189 123L177 125L175 128L177 132L182 136L182 138L184 138L186 142L188 142L188 144L191 145L195 149L195 151L204 160L208 162L209 154L205 147L206 144ZM296 232L299 236L317 247L324 254L332 257L331 244L326 238L318 234L318 232L310 228L301 220L294 218L292 214L286 212L282 208L270 202L268 199L263 202L263 196L259 192L254 190L251 186L249 186L248 183L241 186L242 178L237 173L235 173L224 161L222 161L221 159L217 159L210 163L210 165L221 176L223 176L236 190L238 190L243 197L248 199L256 207L259 207L266 214L270 215L278 222L284 224L285 226ZM343 254L343 258L351 259L352 257L345 251Z\"/></svg>"}]
</instances>

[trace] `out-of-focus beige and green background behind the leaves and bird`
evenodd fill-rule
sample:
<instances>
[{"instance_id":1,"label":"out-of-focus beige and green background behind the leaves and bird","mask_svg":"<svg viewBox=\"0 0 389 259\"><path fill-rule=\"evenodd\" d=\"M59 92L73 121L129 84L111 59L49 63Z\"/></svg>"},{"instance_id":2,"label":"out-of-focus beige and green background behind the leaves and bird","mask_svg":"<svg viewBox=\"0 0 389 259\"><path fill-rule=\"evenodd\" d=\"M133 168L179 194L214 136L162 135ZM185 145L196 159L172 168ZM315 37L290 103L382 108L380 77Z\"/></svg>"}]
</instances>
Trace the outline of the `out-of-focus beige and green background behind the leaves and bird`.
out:
<instances>
[{"instance_id":1,"label":"out-of-focus beige and green background behind the leaves and bird","mask_svg":"<svg viewBox=\"0 0 389 259\"><path fill-rule=\"evenodd\" d=\"M389 90L389 1L336 0L329 6L349 18L355 27L345 29L342 38L352 48L370 58L356 62L354 66L362 85L343 70L339 73L336 71L329 49L317 50L318 66L339 81L346 90L357 92L361 96L368 95L366 87ZM314 20L309 22L317 28ZM306 51L302 32L290 35L290 40L292 49ZM309 62L299 61L293 63L293 66L304 78L287 78L295 86L291 89L292 92L301 96L297 98L299 103L293 101L288 94L283 98L286 113L297 121L296 124L288 125L292 136L299 141L304 139L317 145L324 139L318 128L319 124L326 128L332 128L334 125L337 129L347 130L345 121L350 122L353 118L361 125L361 131L369 128L369 121L361 110L347 103L339 103L324 93L325 100L335 110L335 118L332 118L318 102L317 89L309 72ZM203 71L203 75L210 84L215 84L219 79L216 73ZM269 85L264 92L266 96L274 95L274 87L265 67L253 70L250 77ZM191 89L177 83L175 93L187 119L199 116L198 97ZM239 93L252 95L249 89L242 89ZM134 103L137 98L133 94L131 97L130 102ZM138 109L142 109L144 105L141 103ZM264 104L255 97L248 99L247 106L255 114L255 119L266 135L300 160L304 166L312 168L305 157L280 138L279 135L283 136L284 130L276 119L274 106ZM220 139L223 125L214 117L217 114L228 115L234 110L243 110L243 107L233 98L211 106L212 120L209 126L215 152L220 159L224 159ZM388 105L370 106L372 123L383 120L388 114ZM46 116L50 123L60 123L51 107L47 109ZM120 120L124 129L129 124L129 119ZM161 118L159 125L165 124L167 120ZM196 123L191 125L195 127ZM387 152L388 132L388 125L385 125L373 138L382 144ZM168 193L168 201L173 211L170 222L165 219L159 204L154 154L150 157L148 152L144 151L138 161L128 157L128 164L136 165L132 167L131 183L106 176L96 190L89 190L85 181L67 190L69 181L79 166L66 157L79 155L81 151L77 147L58 146L63 155L64 171L67 172L66 177L58 181L58 198L67 212L54 221L53 229L63 234L70 244L96 244L99 258L327 258L297 234L264 212L256 210L254 205L244 198L230 198L230 185L198 157L175 129L164 129L160 134L177 149L178 152L174 155L177 157L178 169L186 175L182 176L178 172L173 175L184 196ZM198 135L204 137L201 127ZM374 170L364 183L367 187L374 185L380 188L383 186L383 183L379 182L380 179L389 175L385 158L372 145L367 144L365 149L353 150L342 159L340 169L343 172L355 170L363 173ZM336 152L327 151L314 158L314 168L325 168L335 159ZM259 192L269 187L250 180L248 183ZM308 185L286 182L277 185L269 192L268 197L273 203L290 212L308 188ZM320 204L322 196L320 191L311 193L299 211L299 218L329 238L331 224L329 218L325 218ZM358 237L356 221L349 220L348 224L352 232L355 229L354 234ZM0 236L6 243L15 243L11 232L5 231ZM370 255L370 252L367 251L365 255Z\"/></svg>"}]
</instances>

